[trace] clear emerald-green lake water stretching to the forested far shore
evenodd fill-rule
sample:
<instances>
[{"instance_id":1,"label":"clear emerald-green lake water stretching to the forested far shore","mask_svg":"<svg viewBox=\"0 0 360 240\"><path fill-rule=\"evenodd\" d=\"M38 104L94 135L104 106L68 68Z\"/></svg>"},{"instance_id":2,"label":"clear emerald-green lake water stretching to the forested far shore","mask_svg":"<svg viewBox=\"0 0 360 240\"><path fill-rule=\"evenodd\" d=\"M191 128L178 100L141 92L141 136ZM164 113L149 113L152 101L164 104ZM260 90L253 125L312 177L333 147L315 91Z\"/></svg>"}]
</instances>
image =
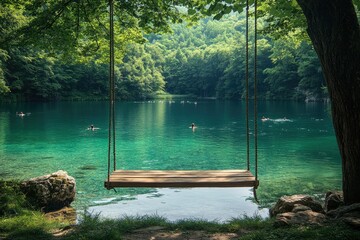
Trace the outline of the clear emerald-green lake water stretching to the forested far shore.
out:
<instances>
[{"instance_id":1,"label":"clear emerald-green lake water stretching to the forested far shore","mask_svg":"<svg viewBox=\"0 0 360 240\"><path fill-rule=\"evenodd\" d=\"M117 103L116 109L121 168L246 166L242 102L126 102ZM31 114L19 117L15 114L19 111ZM272 119L259 119L261 204L283 194L323 194L340 188L341 162L328 105L260 102L258 112ZM192 122L198 126L195 132L189 128ZM100 129L86 130L90 124ZM0 104L0 178L27 179L65 170L77 181L77 208L156 191L119 189L115 193L103 188L107 126L106 102Z\"/></svg>"}]
</instances>

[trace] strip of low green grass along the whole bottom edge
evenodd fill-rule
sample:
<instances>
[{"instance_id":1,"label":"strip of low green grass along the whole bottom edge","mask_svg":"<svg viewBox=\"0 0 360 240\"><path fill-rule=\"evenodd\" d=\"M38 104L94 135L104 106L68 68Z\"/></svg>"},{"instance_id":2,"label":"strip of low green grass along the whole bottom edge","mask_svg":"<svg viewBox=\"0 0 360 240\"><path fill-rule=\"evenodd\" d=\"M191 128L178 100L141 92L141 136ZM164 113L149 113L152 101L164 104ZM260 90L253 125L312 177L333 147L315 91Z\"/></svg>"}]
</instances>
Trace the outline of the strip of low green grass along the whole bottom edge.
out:
<instances>
[{"instance_id":1,"label":"strip of low green grass along the whole bottom edge","mask_svg":"<svg viewBox=\"0 0 360 240\"><path fill-rule=\"evenodd\" d=\"M46 220L42 214L28 212L18 217L2 218L0 220L0 237L8 239L122 239L137 229L152 226L163 227L163 231L182 231L191 235L191 231L205 231L209 233L230 232L238 233L244 240L278 240L278 239L360 239L360 231L347 225L333 223L326 226L313 227L281 227L273 226L273 219L258 217L244 217L232 219L226 223L187 219L169 222L160 216L123 217L121 219L101 219L98 215L83 214L82 220L73 228L73 231L62 237L50 234L54 229L64 227L64 223Z\"/></svg>"}]
</instances>

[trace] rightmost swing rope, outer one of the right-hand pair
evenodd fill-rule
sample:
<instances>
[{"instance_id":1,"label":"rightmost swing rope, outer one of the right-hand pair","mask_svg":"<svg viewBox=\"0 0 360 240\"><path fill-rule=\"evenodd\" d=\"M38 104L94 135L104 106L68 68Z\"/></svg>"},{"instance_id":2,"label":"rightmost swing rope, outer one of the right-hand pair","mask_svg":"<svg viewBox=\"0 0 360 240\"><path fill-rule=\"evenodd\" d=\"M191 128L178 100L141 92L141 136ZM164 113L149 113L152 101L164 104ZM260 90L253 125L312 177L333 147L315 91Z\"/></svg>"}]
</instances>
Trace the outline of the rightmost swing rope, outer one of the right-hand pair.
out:
<instances>
[{"instance_id":1,"label":"rightmost swing rope, outer one of the right-hand pair","mask_svg":"<svg viewBox=\"0 0 360 240\"><path fill-rule=\"evenodd\" d=\"M255 181L258 181L258 124L257 124L257 0L254 0L254 146Z\"/></svg>"}]
</instances>

